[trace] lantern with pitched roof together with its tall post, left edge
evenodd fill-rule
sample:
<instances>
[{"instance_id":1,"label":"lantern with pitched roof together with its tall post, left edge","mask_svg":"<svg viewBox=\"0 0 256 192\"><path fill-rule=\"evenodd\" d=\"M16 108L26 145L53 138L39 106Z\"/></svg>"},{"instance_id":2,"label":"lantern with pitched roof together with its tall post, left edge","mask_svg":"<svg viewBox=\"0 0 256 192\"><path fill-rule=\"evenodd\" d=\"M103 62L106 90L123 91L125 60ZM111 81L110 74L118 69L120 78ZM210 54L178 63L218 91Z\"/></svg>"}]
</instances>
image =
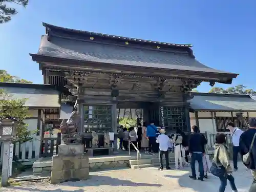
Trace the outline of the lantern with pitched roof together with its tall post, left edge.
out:
<instances>
[{"instance_id":1,"label":"lantern with pitched roof together with its tall post, left edge","mask_svg":"<svg viewBox=\"0 0 256 192\"><path fill-rule=\"evenodd\" d=\"M0 119L0 141L2 141L4 145L4 150L2 153L2 186L8 185L8 177L12 172L12 157L10 157L10 148L11 141L13 141L16 138L16 126L19 122L20 121L16 120L11 116L5 116Z\"/></svg>"}]
</instances>

